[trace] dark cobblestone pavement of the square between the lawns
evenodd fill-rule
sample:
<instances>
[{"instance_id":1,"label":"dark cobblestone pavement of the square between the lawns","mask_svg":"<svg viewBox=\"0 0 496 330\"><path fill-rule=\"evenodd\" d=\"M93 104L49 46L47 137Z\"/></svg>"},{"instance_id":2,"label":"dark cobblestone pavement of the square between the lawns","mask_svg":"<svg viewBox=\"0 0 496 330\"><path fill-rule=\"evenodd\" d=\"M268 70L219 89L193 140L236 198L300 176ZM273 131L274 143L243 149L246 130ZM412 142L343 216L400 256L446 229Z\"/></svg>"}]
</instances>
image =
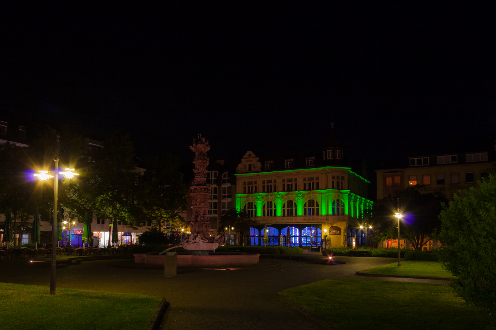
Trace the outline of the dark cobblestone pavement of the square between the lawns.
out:
<instances>
[{"instance_id":1,"label":"dark cobblestone pavement of the square between the lawns","mask_svg":"<svg viewBox=\"0 0 496 330\"><path fill-rule=\"evenodd\" d=\"M164 277L163 270L159 269L113 266L126 262L121 260L85 261L81 265L58 269L57 285L164 296L171 303L164 330L321 329L321 326L279 300L277 292L319 280L350 278L357 271L386 265L392 260L367 257L335 259L346 264L326 266L293 260L267 262L267 259L261 259L263 264L280 266L251 266L238 270L180 268L179 275L175 277ZM28 265L26 260L0 262L0 282L50 285L49 267Z\"/></svg>"}]
</instances>

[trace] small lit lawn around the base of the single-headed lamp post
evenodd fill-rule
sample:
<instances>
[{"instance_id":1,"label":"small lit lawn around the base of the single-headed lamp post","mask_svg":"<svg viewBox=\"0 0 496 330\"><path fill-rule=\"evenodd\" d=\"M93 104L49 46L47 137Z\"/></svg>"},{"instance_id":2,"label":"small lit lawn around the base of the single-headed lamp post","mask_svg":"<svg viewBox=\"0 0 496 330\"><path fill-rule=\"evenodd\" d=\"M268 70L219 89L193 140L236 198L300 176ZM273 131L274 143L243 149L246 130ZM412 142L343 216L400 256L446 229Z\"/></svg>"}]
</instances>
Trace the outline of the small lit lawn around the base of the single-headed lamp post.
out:
<instances>
[{"instance_id":1,"label":"small lit lawn around the base of the single-headed lamp post","mask_svg":"<svg viewBox=\"0 0 496 330\"><path fill-rule=\"evenodd\" d=\"M457 279L456 276L451 276L451 273L442 269L439 261L405 260L401 262L401 267L398 267L398 262L393 262L360 273Z\"/></svg>"}]
</instances>

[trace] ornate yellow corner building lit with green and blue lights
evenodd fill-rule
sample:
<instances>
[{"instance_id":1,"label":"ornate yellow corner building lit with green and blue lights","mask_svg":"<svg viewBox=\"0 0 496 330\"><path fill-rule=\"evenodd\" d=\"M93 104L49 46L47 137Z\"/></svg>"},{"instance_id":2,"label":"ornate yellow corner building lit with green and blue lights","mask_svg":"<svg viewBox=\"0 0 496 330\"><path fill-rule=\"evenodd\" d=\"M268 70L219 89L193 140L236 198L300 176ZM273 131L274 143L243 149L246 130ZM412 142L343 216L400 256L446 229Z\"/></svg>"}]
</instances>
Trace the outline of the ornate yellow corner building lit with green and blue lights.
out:
<instances>
[{"instance_id":1,"label":"ornate yellow corner building lit with green and blue lights","mask_svg":"<svg viewBox=\"0 0 496 330\"><path fill-rule=\"evenodd\" d=\"M370 182L343 166L341 147L328 145L304 156L245 154L237 167L236 208L260 224L247 233L249 244L263 244L265 229L270 245L310 249L356 243L357 219L372 207Z\"/></svg>"}]
</instances>

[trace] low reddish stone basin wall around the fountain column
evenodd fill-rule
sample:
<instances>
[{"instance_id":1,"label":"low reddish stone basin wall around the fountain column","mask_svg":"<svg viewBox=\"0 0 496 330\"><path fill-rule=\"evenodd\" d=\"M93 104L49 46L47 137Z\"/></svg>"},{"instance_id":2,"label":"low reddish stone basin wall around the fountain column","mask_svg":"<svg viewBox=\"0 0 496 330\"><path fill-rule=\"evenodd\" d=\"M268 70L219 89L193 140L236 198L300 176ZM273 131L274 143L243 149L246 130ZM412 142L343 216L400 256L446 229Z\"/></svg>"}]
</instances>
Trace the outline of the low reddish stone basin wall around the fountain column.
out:
<instances>
[{"instance_id":1,"label":"low reddish stone basin wall around the fountain column","mask_svg":"<svg viewBox=\"0 0 496 330\"><path fill-rule=\"evenodd\" d=\"M215 253L210 255L178 255L178 266L224 266L254 265L258 263L259 253ZM135 253L134 263L163 265L165 255Z\"/></svg>"}]
</instances>

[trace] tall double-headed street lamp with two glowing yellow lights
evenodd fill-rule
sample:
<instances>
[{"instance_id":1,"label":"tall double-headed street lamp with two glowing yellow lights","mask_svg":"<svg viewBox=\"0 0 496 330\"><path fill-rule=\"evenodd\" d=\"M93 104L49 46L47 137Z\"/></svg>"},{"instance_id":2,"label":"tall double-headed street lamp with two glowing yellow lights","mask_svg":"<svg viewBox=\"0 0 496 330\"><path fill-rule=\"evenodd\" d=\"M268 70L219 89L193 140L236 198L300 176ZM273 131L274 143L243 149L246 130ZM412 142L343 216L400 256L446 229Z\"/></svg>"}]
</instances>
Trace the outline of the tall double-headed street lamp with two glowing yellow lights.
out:
<instances>
[{"instance_id":1,"label":"tall double-headed street lamp with two glowing yellow lights","mask_svg":"<svg viewBox=\"0 0 496 330\"><path fill-rule=\"evenodd\" d=\"M54 180L54 220L52 223L52 264L51 264L51 272L50 272L50 294L55 294L55 278L57 275L57 203L59 202L59 173L64 176L65 179L70 180L74 178L74 176L79 175L74 172L73 168L66 167L64 168L64 172L59 172L59 151L60 151L60 137L57 136L56 144L55 144L55 180ZM38 177L40 181L46 182L50 178L54 178L53 175L50 175L50 171L39 170L38 174L34 174L35 177ZM70 233L69 233L70 235Z\"/></svg>"}]
</instances>

